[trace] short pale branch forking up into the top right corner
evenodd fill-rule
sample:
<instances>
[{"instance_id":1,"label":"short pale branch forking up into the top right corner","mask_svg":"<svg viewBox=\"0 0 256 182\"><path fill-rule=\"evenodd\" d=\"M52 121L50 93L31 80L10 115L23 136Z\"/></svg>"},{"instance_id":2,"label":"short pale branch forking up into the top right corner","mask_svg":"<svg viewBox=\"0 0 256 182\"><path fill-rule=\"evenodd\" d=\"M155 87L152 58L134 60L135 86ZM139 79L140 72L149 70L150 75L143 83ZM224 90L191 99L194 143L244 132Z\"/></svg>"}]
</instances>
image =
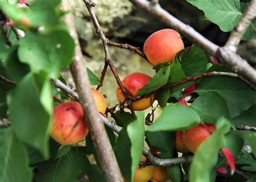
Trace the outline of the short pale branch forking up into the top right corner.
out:
<instances>
[{"instance_id":1,"label":"short pale branch forking up into the top right corner","mask_svg":"<svg viewBox=\"0 0 256 182\"><path fill-rule=\"evenodd\" d=\"M247 27L251 24L252 20L256 17L256 0L252 0L248 5L248 8L242 15L237 26L234 27L234 30L231 32L230 37L228 38L225 47L237 52L238 44L242 36L244 35Z\"/></svg>"}]
</instances>

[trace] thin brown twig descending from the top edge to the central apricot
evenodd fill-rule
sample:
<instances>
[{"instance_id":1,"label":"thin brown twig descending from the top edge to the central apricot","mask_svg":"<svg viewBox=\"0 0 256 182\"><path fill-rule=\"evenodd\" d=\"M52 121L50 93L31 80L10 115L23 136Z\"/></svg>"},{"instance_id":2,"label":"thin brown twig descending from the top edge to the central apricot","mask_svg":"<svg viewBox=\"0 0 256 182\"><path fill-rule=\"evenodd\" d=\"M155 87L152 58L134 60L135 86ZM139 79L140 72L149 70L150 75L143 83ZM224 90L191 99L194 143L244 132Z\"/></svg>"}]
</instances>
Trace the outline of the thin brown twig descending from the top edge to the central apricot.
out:
<instances>
[{"instance_id":1,"label":"thin brown twig descending from the top edge to the central apricot","mask_svg":"<svg viewBox=\"0 0 256 182\"><path fill-rule=\"evenodd\" d=\"M113 73L114 78L117 81L117 85L121 88L122 92L124 93L125 98L129 98L131 96L131 94L124 88L123 83L122 83L122 81L120 80L120 78L117 74L117 70L114 67L113 60L110 57L109 47L107 46L107 42L109 40L105 37L102 29L100 28L98 19L95 15L94 11L92 10L92 5L91 5L92 2L90 2L89 0L84 0L84 3L86 5L87 10L89 11L89 14L90 14L91 19L92 19L92 23L93 23L93 25L95 26L95 29L96 29L96 33L99 34L100 40L102 40L102 44L103 44L103 48L104 48L104 52L105 52L105 62L109 65L109 67L111 69L111 72ZM104 80L104 76L105 76L105 74L102 74L102 78L100 78L100 80L102 80L102 82ZM130 103L128 105L129 105L128 108L131 110L132 116L135 117L136 115L134 113L132 105Z\"/></svg>"}]
</instances>

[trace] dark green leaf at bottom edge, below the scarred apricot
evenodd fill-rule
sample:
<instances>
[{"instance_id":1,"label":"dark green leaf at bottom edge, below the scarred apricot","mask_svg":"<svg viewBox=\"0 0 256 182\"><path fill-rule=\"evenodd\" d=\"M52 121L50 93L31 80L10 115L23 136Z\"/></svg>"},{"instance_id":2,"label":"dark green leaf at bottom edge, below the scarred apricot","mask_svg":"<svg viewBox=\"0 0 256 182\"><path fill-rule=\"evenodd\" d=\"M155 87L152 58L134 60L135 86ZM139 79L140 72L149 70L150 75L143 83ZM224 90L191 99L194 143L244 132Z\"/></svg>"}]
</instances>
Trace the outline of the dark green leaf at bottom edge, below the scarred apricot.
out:
<instances>
[{"instance_id":1,"label":"dark green leaf at bottom edge, below the scarred apricot","mask_svg":"<svg viewBox=\"0 0 256 182\"><path fill-rule=\"evenodd\" d=\"M37 182L70 182L78 181L86 173L90 166L82 148L70 150L66 155L60 158L52 158L37 165Z\"/></svg>"}]
</instances>

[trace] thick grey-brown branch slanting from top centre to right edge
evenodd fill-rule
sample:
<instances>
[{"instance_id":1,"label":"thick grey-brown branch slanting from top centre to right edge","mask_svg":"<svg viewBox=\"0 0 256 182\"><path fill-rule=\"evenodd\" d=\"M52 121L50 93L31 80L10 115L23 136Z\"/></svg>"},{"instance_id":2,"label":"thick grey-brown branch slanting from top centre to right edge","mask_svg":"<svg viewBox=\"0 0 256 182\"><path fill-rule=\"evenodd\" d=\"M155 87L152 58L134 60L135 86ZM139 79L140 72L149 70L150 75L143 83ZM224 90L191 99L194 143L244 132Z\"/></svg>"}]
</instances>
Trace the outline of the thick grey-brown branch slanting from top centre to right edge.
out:
<instances>
[{"instance_id":1,"label":"thick grey-brown branch slanting from top centre to right edge","mask_svg":"<svg viewBox=\"0 0 256 182\"><path fill-rule=\"evenodd\" d=\"M203 48L205 52L213 55L213 57L221 61L227 68L231 69L232 72L239 74L247 80L247 82L250 82L253 87L256 87L256 71L246 60L240 58L238 54L228 48L220 48L218 45L213 44L191 26L184 24L179 19L170 15L170 13L161 8L159 4L152 6L151 3L146 0L130 0L130 2L137 8L143 9L158 18L167 26L173 27L179 31L190 39L192 43Z\"/></svg>"}]
</instances>

